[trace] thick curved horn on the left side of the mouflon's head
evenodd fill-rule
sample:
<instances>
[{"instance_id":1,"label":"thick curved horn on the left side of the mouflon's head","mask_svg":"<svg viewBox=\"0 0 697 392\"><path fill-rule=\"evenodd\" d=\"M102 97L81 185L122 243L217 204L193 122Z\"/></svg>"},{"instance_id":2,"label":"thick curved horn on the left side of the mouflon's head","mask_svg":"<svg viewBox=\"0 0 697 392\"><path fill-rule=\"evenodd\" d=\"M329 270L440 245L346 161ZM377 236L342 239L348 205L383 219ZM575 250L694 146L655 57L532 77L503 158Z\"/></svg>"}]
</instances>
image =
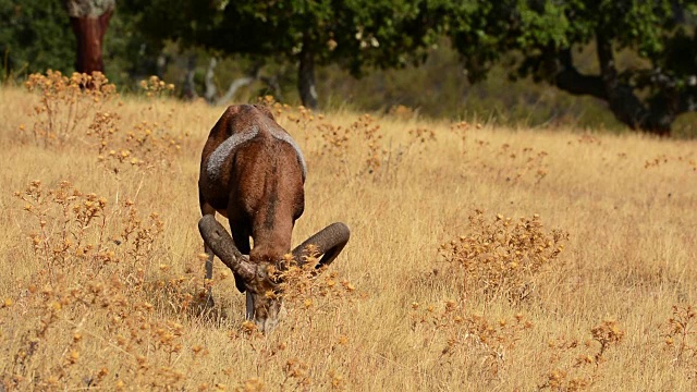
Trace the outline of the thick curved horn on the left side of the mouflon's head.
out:
<instances>
[{"instance_id":1,"label":"thick curved horn on the left side of the mouflon's head","mask_svg":"<svg viewBox=\"0 0 697 392\"><path fill-rule=\"evenodd\" d=\"M247 282L254 279L254 266L237 250L228 231L225 231L222 224L218 223L213 216L204 216L204 218L198 221L198 231L206 244L210 246L216 256L218 256L228 268Z\"/></svg>"}]
</instances>

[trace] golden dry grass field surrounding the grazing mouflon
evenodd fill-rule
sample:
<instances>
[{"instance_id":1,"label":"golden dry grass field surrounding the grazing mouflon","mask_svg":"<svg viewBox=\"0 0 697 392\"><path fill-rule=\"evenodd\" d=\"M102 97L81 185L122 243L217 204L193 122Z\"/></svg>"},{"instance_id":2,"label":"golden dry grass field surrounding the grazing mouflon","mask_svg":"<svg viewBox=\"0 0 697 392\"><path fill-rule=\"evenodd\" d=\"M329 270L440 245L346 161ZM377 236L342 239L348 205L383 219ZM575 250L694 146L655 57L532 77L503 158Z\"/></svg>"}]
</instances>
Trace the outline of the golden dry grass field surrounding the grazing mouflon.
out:
<instances>
[{"instance_id":1,"label":"golden dry grass field surrounding the grazing mouflon","mask_svg":"<svg viewBox=\"0 0 697 392\"><path fill-rule=\"evenodd\" d=\"M308 162L294 244L352 240L262 335L203 280L223 108L33 83L0 89L0 391L697 388L695 142L267 100Z\"/></svg>"}]
</instances>

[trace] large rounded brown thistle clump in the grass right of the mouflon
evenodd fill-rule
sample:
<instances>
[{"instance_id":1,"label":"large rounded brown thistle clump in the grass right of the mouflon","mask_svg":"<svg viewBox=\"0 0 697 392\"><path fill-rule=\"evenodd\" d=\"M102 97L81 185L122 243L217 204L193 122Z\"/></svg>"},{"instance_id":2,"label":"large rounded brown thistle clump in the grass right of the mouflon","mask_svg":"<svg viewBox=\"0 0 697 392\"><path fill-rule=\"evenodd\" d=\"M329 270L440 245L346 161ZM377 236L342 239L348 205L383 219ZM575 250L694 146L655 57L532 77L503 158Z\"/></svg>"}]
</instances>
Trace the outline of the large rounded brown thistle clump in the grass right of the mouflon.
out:
<instances>
[{"instance_id":1,"label":"large rounded brown thistle clump in the grass right of the mouflon","mask_svg":"<svg viewBox=\"0 0 697 392\"><path fill-rule=\"evenodd\" d=\"M442 244L439 253L452 275L463 279L465 293L519 303L534 293L538 275L559 259L567 238L561 230L545 231L538 215L518 221L497 215L489 222L475 210L467 233Z\"/></svg>"}]
</instances>

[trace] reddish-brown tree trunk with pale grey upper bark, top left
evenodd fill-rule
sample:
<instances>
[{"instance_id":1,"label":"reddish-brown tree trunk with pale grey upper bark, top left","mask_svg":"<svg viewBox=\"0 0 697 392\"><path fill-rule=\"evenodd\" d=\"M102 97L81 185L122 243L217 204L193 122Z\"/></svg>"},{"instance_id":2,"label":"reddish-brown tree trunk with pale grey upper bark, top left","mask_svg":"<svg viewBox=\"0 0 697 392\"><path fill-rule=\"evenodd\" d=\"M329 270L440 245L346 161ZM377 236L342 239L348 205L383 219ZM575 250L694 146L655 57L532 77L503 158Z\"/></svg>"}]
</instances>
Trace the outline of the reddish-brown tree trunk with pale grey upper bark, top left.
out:
<instances>
[{"instance_id":1,"label":"reddish-brown tree trunk with pale grey upper bark, top left","mask_svg":"<svg viewBox=\"0 0 697 392\"><path fill-rule=\"evenodd\" d=\"M75 71L103 73L102 42L115 9L115 0L68 0L65 7L77 39Z\"/></svg>"}]
</instances>

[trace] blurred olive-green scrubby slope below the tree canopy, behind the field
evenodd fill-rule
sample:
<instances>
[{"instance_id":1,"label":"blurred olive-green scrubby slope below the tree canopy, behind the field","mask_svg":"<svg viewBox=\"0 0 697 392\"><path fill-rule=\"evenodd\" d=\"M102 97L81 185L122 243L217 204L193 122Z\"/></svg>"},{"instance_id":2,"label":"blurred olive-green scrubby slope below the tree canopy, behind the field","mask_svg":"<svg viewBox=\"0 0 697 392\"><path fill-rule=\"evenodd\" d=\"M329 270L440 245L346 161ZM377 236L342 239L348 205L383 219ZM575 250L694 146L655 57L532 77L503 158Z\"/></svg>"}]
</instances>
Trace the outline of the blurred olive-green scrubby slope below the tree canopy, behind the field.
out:
<instances>
[{"instance_id":1,"label":"blurred olive-green scrubby slope below the tree canopy, behind the field","mask_svg":"<svg viewBox=\"0 0 697 392\"><path fill-rule=\"evenodd\" d=\"M628 60L626 60L628 61ZM428 52L426 62L398 70L374 70L353 78L331 65L318 70L322 107L388 112L405 106L423 118L466 120L512 126L560 125L617 132L622 125L601 101L574 97L531 78L510 81L503 64L488 77L467 82L463 65L448 40ZM292 98L292 97L289 97ZM689 126L687 123L685 126Z\"/></svg>"}]
</instances>

